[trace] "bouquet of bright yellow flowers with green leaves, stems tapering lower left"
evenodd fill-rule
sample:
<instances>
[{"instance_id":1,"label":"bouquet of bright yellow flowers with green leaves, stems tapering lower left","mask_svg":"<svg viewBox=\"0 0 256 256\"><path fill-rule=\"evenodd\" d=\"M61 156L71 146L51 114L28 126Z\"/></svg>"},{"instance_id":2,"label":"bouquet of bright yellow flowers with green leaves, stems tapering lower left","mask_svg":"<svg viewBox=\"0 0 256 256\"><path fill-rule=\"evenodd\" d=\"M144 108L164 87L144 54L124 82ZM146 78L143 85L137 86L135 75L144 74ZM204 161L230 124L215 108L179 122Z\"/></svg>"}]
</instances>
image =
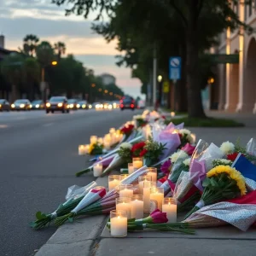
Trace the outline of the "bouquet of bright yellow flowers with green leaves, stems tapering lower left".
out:
<instances>
[{"instance_id":1,"label":"bouquet of bright yellow flowers with green leaves, stems tapering lower left","mask_svg":"<svg viewBox=\"0 0 256 256\"><path fill-rule=\"evenodd\" d=\"M217 166L207 172L207 177L203 181L203 194L201 200L186 215L188 218L193 212L201 207L209 206L218 201L232 199L246 194L244 177L240 172L230 166Z\"/></svg>"}]
</instances>

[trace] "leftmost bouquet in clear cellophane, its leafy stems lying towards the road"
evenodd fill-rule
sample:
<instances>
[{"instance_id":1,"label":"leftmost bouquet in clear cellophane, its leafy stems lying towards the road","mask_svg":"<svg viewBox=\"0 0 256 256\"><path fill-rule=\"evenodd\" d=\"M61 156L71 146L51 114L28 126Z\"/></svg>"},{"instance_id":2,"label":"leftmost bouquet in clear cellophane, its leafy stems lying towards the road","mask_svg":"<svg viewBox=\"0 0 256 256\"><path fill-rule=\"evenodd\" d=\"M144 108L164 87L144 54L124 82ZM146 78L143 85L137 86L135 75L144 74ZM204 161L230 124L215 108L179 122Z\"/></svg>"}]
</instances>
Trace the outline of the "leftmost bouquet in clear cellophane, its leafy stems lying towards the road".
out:
<instances>
[{"instance_id":1,"label":"leftmost bouquet in clear cellophane, its leafy stems lying towards the road","mask_svg":"<svg viewBox=\"0 0 256 256\"><path fill-rule=\"evenodd\" d=\"M80 201L83 200L84 195L87 195L90 189L96 187L96 182L91 182L87 186L80 188L79 186L73 185L67 189L66 201L62 203L55 212L45 214L43 212L37 212L37 220L33 221L30 226L34 230L39 230L49 225L52 220L57 217L61 217L68 212L72 211L74 207L77 207Z\"/></svg>"}]
</instances>

